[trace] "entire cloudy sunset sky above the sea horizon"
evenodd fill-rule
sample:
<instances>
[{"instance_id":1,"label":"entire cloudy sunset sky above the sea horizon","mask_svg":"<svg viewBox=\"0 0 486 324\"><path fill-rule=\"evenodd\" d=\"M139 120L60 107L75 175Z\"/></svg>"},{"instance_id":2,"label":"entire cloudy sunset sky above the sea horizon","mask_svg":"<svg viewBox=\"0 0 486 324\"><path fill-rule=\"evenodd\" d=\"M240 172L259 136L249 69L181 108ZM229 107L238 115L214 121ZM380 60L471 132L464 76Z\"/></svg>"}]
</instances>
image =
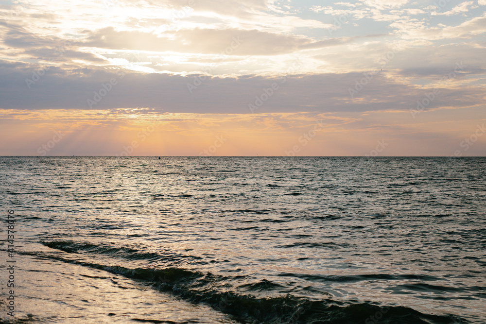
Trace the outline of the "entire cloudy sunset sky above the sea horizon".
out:
<instances>
[{"instance_id":1,"label":"entire cloudy sunset sky above the sea horizon","mask_svg":"<svg viewBox=\"0 0 486 324\"><path fill-rule=\"evenodd\" d=\"M486 0L0 0L0 155L486 156Z\"/></svg>"}]
</instances>

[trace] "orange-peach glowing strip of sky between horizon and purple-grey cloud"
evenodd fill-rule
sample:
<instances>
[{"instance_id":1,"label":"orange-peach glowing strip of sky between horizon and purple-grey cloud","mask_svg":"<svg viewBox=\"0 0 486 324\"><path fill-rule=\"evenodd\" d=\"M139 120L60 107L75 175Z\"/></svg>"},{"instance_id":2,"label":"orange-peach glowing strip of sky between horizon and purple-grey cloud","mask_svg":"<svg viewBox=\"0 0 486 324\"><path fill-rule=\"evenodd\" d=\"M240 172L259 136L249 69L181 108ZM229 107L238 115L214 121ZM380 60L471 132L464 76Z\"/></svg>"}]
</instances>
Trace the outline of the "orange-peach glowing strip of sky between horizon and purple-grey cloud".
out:
<instances>
[{"instance_id":1,"label":"orange-peach glowing strip of sky between horizon and purple-grey cloud","mask_svg":"<svg viewBox=\"0 0 486 324\"><path fill-rule=\"evenodd\" d=\"M139 108L0 110L0 116L8 134L3 155L444 156L461 149L461 140L474 134L478 123L441 120L434 112L423 113L420 123L408 112L160 114ZM380 126L384 119L386 127ZM379 152L373 152L380 141ZM484 154L485 141L478 137L461 154Z\"/></svg>"}]
</instances>

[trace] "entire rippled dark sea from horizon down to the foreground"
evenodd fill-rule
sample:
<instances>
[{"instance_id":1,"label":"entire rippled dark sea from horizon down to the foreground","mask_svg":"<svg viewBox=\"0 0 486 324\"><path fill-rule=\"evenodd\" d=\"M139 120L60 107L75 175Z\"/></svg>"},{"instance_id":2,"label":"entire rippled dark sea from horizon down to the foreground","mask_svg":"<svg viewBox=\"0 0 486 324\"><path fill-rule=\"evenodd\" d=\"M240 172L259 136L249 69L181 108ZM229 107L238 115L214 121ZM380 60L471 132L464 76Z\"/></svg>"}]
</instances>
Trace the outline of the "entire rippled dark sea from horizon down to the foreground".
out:
<instances>
[{"instance_id":1,"label":"entire rippled dark sea from horizon down to the foreground","mask_svg":"<svg viewBox=\"0 0 486 324\"><path fill-rule=\"evenodd\" d=\"M2 323L486 323L486 158L0 157L0 173Z\"/></svg>"}]
</instances>

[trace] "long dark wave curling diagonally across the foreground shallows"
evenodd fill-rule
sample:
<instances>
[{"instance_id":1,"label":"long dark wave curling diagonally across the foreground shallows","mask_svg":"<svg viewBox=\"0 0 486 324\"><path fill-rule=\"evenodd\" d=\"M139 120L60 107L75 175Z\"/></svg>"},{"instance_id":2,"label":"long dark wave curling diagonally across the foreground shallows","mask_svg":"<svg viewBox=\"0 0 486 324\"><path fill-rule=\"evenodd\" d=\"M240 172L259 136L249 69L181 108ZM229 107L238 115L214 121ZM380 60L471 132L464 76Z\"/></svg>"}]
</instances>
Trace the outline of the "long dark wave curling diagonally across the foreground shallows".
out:
<instances>
[{"instance_id":1,"label":"long dark wave curling diagonally across the foreground shallows","mask_svg":"<svg viewBox=\"0 0 486 324\"><path fill-rule=\"evenodd\" d=\"M98 250L92 244L74 242L44 242L46 246L66 252ZM19 252L19 254L48 257L61 262L77 264L122 275L145 282L153 289L169 292L191 303L206 304L226 313L241 323L309 323L309 324L458 324L469 323L454 315L424 314L409 307L385 306L359 301L337 301L330 298L311 299L292 294L274 297L257 297L251 291L274 290L281 285L263 279L240 287L249 291L242 293L228 287L228 278L184 268L129 268L119 265L104 265L66 259L45 253ZM233 278L235 279L235 278ZM249 278L243 277L244 281Z\"/></svg>"}]
</instances>

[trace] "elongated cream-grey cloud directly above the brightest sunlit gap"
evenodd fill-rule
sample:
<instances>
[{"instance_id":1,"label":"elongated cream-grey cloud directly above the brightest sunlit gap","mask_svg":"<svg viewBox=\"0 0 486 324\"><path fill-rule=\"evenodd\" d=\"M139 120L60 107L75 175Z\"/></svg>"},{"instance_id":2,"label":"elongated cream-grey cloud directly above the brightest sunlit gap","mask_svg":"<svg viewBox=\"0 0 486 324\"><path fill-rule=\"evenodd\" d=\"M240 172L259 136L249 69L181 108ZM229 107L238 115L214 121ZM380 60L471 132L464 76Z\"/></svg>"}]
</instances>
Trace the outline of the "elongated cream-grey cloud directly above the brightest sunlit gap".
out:
<instances>
[{"instance_id":1,"label":"elongated cream-grey cloud directly above the brightest sunlit gap","mask_svg":"<svg viewBox=\"0 0 486 324\"><path fill-rule=\"evenodd\" d=\"M85 31L86 41L78 46L116 50L174 51L223 55L278 55L301 49L323 48L349 42L349 38L321 41L303 35L286 35L239 29L199 29L166 32L160 35L139 31L116 31L106 27Z\"/></svg>"}]
</instances>

